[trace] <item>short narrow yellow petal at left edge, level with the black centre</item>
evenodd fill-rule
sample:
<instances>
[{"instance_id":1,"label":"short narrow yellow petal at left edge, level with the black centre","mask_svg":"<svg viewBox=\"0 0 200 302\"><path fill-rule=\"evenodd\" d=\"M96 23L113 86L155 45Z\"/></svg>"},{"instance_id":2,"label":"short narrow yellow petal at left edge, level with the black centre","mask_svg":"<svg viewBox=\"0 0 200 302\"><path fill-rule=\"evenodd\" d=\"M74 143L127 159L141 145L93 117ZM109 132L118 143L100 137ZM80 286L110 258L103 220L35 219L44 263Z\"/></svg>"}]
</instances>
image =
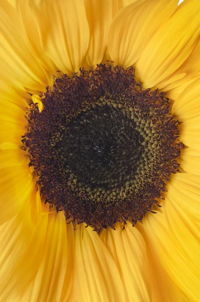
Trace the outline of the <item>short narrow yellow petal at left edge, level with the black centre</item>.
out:
<instances>
[{"instance_id":1,"label":"short narrow yellow petal at left edge, level with the black centre","mask_svg":"<svg viewBox=\"0 0 200 302\"><path fill-rule=\"evenodd\" d=\"M4 149L0 147L0 169L13 166L23 166L26 168L29 164L29 156L23 149Z\"/></svg>"}]
</instances>

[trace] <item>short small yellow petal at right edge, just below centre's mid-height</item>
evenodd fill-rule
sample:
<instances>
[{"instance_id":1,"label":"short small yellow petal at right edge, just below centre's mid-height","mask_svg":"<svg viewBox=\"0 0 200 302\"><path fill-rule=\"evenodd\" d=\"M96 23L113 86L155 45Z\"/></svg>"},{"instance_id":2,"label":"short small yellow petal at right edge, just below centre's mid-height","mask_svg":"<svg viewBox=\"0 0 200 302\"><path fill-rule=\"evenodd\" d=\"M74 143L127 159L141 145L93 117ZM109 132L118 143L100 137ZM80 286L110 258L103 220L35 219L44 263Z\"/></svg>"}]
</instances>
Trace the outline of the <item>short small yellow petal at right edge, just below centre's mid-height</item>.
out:
<instances>
[{"instance_id":1,"label":"short small yellow petal at right edge, just below centre's mid-height","mask_svg":"<svg viewBox=\"0 0 200 302\"><path fill-rule=\"evenodd\" d=\"M200 175L200 152L189 147L183 149L179 164L186 173Z\"/></svg>"}]
</instances>

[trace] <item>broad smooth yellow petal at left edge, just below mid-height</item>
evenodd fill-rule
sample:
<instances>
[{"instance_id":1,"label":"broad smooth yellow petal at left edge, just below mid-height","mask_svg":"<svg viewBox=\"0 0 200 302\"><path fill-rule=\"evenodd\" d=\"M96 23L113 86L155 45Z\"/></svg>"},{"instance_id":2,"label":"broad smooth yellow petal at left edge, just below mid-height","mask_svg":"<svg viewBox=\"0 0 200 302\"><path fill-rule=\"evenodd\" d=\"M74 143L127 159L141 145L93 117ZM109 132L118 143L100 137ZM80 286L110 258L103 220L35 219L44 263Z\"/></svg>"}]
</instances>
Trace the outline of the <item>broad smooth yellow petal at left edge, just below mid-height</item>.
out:
<instances>
[{"instance_id":1,"label":"broad smooth yellow petal at left edge, just below mid-height","mask_svg":"<svg viewBox=\"0 0 200 302\"><path fill-rule=\"evenodd\" d=\"M36 177L27 169L13 166L0 170L0 224L17 215L30 198Z\"/></svg>"}]
</instances>

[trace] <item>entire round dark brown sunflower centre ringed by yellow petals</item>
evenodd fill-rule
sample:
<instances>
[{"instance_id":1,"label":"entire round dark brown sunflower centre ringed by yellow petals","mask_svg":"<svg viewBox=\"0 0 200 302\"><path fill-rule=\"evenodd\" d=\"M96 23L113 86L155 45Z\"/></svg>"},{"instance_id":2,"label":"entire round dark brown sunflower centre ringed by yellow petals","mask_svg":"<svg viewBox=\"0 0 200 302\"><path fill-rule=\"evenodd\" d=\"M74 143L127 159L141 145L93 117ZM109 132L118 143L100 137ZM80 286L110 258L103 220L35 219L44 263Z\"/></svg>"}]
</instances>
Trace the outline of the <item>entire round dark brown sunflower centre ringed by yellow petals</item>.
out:
<instances>
[{"instance_id":1,"label":"entire round dark brown sunflower centre ringed by yellow petals","mask_svg":"<svg viewBox=\"0 0 200 302\"><path fill-rule=\"evenodd\" d=\"M168 100L141 90L134 69L65 74L31 104L23 138L42 196L66 219L99 231L135 224L166 191L183 144Z\"/></svg>"}]
</instances>

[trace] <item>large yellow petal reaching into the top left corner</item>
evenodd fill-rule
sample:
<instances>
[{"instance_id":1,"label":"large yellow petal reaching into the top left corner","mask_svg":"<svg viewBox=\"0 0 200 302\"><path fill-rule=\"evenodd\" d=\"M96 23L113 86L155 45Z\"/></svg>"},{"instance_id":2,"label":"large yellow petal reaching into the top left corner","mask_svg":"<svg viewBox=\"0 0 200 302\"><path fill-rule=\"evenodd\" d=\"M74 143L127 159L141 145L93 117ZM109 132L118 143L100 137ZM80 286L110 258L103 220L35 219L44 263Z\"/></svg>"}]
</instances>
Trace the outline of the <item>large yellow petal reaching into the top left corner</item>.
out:
<instances>
[{"instance_id":1,"label":"large yellow petal reaching into the top left corner","mask_svg":"<svg viewBox=\"0 0 200 302\"><path fill-rule=\"evenodd\" d=\"M50 75L27 44L16 9L7 1L0 8L1 81L11 87L45 90Z\"/></svg>"}]
</instances>

